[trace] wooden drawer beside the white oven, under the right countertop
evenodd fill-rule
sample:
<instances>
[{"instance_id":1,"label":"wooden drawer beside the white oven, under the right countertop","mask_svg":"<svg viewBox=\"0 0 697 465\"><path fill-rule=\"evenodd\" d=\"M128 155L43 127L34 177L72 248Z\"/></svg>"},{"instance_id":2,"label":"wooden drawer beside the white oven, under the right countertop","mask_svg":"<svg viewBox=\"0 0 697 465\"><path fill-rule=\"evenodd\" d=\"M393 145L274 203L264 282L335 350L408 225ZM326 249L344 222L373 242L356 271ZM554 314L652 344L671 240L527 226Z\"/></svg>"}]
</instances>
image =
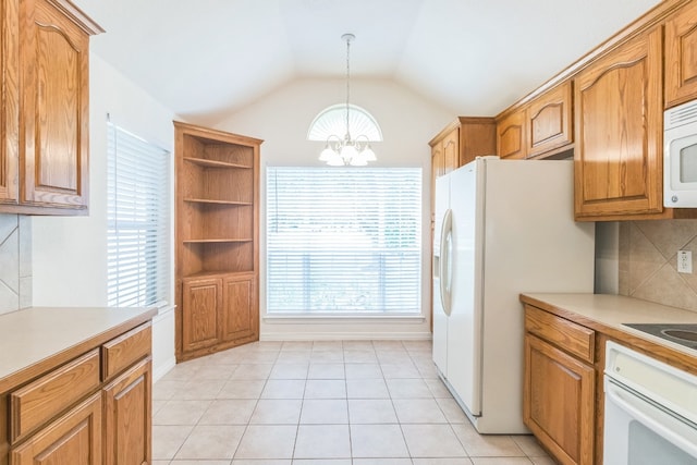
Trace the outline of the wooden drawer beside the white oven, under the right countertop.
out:
<instances>
[{"instance_id":1,"label":"wooden drawer beside the white oven, under the right countertop","mask_svg":"<svg viewBox=\"0 0 697 465\"><path fill-rule=\"evenodd\" d=\"M582 360L594 363L596 333L591 329L526 305L525 331L554 344Z\"/></svg>"}]
</instances>

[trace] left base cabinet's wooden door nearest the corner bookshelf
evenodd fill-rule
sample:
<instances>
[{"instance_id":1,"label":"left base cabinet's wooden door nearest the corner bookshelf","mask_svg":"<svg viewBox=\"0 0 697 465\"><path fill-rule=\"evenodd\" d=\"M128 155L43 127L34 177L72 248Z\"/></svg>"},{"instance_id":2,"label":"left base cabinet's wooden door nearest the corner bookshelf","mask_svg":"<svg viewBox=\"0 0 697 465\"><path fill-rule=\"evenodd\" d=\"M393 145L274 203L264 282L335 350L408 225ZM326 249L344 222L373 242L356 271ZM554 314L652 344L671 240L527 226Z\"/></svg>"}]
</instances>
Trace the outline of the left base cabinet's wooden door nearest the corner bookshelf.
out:
<instances>
[{"instance_id":1,"label":"left base cabinet's wooden door nearest the corner bookshelf","mask_svg":"<svg viewBox=\"0 0 697 465\"><path fill-rule=\"evenodd\" d=\"M151 387L150 357L105 387L105 465L150 463Z\"/></svg>"}]
</instances>

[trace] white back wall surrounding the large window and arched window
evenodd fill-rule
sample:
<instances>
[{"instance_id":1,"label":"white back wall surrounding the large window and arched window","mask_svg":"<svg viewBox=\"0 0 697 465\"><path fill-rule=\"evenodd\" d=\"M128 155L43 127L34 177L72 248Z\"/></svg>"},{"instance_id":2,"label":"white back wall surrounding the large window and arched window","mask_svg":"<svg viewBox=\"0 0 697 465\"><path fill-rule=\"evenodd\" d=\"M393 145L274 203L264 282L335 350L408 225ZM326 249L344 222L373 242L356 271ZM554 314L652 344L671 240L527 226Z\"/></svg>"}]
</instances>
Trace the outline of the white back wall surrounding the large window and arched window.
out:
<instances>
[{"instance_id":1,"label":"white back wall surrounding the large window and arched window","mask_svg":"<svg viewBox=\"0 0 697 465\"><path fill-rule=\"evenodd\" d=\"M369 111L382 129L383 142L372 144L377 167L421 167L424 170L423 264L424 316L414 320L273 321L266 319L265 287L265 169L270 166L321 166L323 144L306 140L314 118L325 108L345 101L343 79L298 79L257 103L230 115L217 127L265 139L261 145L260 313L261 339L427 339L430 338L430 147L428 142L455 118L391 81L352 79L351 102Z\"/></svg>"}]
</instances>

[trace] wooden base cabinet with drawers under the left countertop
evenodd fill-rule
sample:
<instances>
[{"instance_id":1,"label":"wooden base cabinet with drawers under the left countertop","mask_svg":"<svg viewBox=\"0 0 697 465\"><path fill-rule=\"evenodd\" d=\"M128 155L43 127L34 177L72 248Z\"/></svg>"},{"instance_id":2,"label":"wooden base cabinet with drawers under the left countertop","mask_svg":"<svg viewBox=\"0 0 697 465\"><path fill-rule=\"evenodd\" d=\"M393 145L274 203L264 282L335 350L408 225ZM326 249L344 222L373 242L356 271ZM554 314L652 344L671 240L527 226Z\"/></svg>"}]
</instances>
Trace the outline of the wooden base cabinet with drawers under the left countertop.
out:
<instances>
[{"instance_id":1,"label":"wooden base cabinet with drawers under the left countertop","mask_svg":"<svg viewBox=\"0 0 697 465\"><path fill-rule=\"evenodd\" d=\"M151 326L0 393L0 465L151 463Z\"/></svg>"}]
</instances>

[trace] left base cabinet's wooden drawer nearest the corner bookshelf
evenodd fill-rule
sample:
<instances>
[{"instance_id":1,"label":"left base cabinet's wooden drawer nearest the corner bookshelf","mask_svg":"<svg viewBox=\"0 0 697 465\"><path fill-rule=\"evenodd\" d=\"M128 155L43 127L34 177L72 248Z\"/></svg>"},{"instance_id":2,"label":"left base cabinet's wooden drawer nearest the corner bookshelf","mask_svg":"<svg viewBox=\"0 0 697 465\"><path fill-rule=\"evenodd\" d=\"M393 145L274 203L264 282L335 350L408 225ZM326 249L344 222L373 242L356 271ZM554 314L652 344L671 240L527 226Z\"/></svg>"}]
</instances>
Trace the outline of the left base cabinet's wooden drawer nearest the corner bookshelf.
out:
<instances>
[{"instance_id":1,"label":"left base cabinet's wooden drawer nearest the corner bookshelf","mask_svg":"<svg viewBox=\"0 0 697 465\"><path fill-rule=\"evenodd\" d=\"M101 346L101 372L103 380L120 374L151 350L152 327L149 322L112 339Z\"/></svg>"}]
</instances>

